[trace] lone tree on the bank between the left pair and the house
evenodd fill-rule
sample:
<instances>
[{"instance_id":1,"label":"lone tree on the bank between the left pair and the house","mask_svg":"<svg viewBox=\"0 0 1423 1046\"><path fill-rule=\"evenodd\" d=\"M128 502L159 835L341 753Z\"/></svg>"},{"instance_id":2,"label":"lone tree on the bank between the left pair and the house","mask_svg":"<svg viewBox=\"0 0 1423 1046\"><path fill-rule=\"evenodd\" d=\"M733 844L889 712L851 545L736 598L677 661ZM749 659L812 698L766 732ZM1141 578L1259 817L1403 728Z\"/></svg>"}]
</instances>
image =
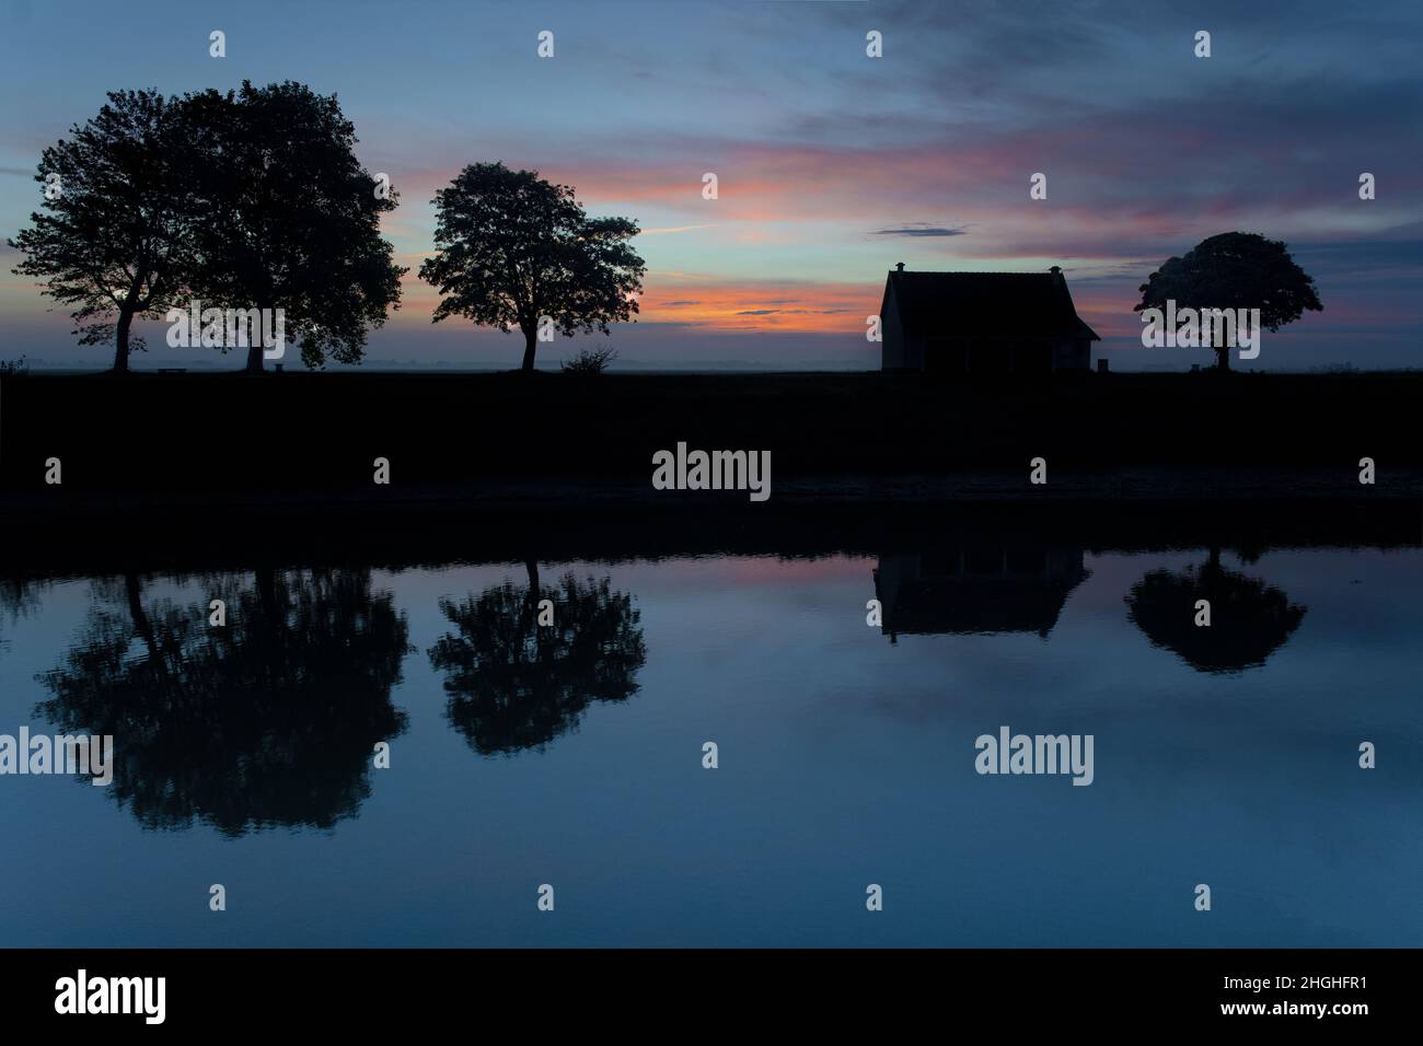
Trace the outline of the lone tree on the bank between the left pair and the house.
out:
<instances>
[{"instance_id":1,"label":"lone tree on the bank between the left pair and the house","mask_svg":"<svg viewBox=\"0 0 1423 1046\"><path fill-rule=\"evenodd\" d=\"M440 290L434 320L464 316L524 334L534 370L539 319L565 336L609 333L638 312L646 266L628 242L638 223L589 218L572 186L538 171L471 164L435 192L435 255L420 278Z\"/></svg>"}]
</instances>

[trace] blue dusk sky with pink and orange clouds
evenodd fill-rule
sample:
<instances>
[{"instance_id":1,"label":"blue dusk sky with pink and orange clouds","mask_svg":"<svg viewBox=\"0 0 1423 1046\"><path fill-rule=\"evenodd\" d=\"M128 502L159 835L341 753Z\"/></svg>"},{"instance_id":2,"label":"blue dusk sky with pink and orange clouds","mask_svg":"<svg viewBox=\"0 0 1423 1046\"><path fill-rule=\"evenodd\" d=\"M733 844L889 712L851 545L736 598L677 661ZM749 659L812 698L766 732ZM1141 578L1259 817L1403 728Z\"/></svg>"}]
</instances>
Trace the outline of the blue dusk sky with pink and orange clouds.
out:
<instances>
[{"instance_id":1,"label":"blue dusk sky with pink and orange clouds","mask_svg":"<svg viewBox=\"0 0 1423 1046\"><path fill-rule=\"evenodd\" d=\"M367 366L518 366L517 333L431 324L417 278L435 189L487 161L640 225L639 322L596 339L623 367L877 369L865 319L904 262L1060 265L1099 357L1180 370L1210 352L1143 349L1137 287L1232 231L1285 241L1325 306L1266 332L1251 366L1423 366L1420 37L1416 0L4 0L0 235L38 209L40 151L107 91L290 78L337 95L400 194L383 228L410 272ZM0 360L107 363L17 260L0 246ZM147 333L137 369L242 364ZM576 347L541 346L541 364Z\"/></svg>"}]
</instances>

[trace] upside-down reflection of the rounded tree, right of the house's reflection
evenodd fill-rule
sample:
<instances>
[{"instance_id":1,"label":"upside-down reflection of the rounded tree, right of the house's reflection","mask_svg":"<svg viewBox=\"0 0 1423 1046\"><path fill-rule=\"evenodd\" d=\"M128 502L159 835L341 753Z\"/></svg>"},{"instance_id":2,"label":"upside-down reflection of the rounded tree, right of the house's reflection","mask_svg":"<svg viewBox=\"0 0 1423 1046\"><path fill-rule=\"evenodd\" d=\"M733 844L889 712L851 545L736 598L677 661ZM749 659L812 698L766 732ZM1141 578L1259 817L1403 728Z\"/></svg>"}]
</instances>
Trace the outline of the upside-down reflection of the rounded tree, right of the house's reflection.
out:
<instances>
[{"instance_id":1,"label":"upside-down reflection of the rounded tree, right of the house's reflection","mask_svg":"<svg viewBox=\"0 0 1423 1046\"><path fill-rule=\"evenodd\" d=\"M1210 626L1195 623L1195 603L1211 603ZM1175 652L1198 672L1239 672L1265 663L1299 628L1305 608L1259 578L1227 571L1221 552L1183 574L1151 571L1126 596L1128 616L1154 646Z\"/></svg>"}]
</instances>

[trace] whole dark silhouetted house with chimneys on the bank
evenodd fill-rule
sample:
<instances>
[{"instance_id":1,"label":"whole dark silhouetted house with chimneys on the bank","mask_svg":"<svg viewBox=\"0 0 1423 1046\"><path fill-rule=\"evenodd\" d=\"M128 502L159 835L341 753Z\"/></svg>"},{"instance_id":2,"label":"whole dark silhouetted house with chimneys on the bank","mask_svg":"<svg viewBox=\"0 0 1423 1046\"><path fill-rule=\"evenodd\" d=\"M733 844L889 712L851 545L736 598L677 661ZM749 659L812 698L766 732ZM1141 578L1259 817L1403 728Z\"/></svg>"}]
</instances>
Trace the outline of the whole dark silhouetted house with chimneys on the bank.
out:
<instances>
[{"instance_id":1,"label":"whole dark silhouetted house with chimneys on the bank","mask_svg":"<svg viewBox=\"0 0 1423 1046\"><path fill-rule=\"evenodd\" d=\"M1097 333L1077 317L1067 279L1049 272L905 272L885 280L882 370L1047 374L1090 370Z\"/></svg>"}]
</instances>

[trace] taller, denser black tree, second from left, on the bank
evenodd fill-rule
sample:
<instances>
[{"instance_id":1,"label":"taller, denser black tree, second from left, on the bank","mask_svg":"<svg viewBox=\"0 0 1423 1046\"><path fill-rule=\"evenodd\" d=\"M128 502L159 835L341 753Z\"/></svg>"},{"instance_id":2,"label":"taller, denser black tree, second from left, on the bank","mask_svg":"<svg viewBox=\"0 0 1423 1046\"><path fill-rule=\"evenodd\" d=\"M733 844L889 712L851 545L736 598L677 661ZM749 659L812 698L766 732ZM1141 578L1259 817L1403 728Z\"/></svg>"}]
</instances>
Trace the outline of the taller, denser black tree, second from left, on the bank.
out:
<instances>
[{"instance_id":1,"label":"taller, denser black tree, second from left, on the bank","mask_svg":"<svg viewBox=\"0 0 1423 1046\"><path fill-rule=\"evenodd\" d=\"M287 339L302 361L360 363L367 327L400 307L393 248L380 215L397 194L356 159L356 128L336 95L286 81L188 100L191 148L206 162L201 268L203 305L282 309ZM248 349L249 371L262 370L260 339Z\"/></svg>"}]
</instances>

